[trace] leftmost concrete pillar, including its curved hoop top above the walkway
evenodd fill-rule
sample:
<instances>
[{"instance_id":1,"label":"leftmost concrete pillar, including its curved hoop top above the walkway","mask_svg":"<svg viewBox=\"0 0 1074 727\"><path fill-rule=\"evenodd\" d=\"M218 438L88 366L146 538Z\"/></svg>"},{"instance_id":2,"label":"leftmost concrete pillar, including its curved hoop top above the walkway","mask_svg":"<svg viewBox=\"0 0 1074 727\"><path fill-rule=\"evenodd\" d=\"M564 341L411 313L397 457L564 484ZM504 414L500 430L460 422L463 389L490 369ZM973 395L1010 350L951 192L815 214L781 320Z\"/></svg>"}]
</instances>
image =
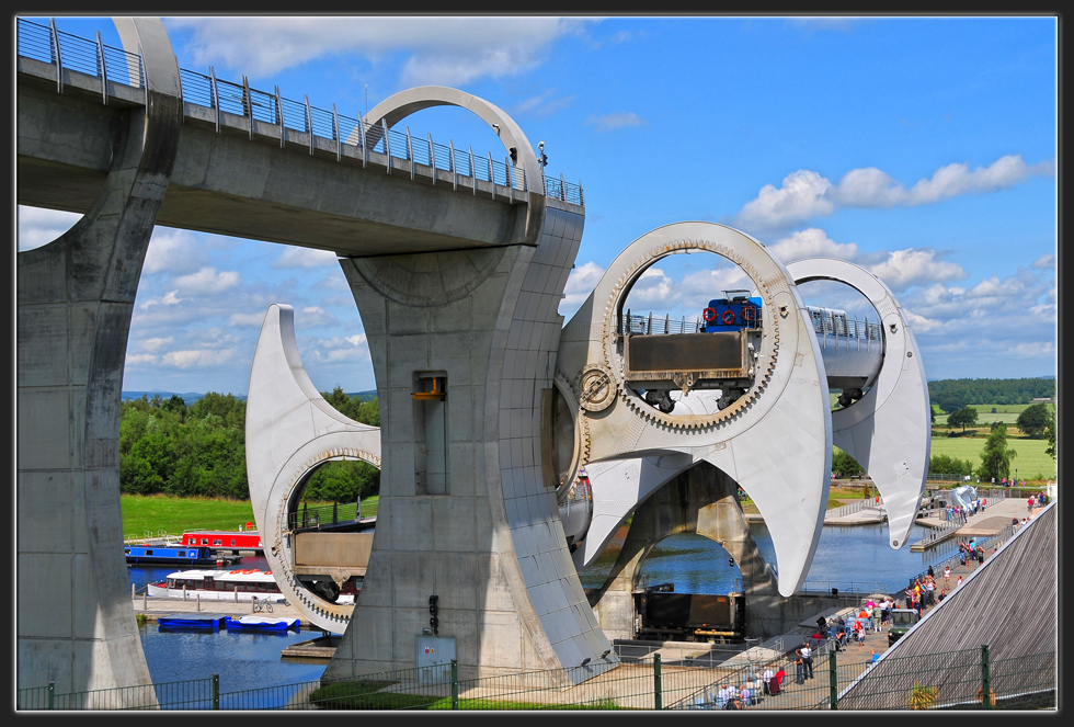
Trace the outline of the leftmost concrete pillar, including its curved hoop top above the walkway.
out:
<instances>
[{"instance_id":1,"label":"leftmost concrete pillar, including its curved hoop top above the walkway","mask_svg":"<svg viewBox=\"0 0 1074 727\"><path fill-rule=\"evenodd\" d=\"M160 21L117 26L146 49L148 107L117 117L112 169L90 212L18 260L18 686L52 681L59 694L150 681L123 557L119 405L181 110Z\"/></svg>"}]
</instances>

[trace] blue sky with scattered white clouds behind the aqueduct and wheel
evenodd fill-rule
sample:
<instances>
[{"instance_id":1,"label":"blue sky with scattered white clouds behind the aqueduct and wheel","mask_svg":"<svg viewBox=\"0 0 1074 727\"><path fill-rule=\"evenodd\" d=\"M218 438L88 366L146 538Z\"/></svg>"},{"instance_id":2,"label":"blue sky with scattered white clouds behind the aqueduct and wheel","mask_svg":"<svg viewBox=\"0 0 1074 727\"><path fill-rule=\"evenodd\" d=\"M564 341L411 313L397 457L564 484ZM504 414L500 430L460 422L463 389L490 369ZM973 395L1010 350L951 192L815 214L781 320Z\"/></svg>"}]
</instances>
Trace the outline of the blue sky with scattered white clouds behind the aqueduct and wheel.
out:
<instances>
[{"instance_id":1,"label":"blue sky with scattered white clouds behind the aqueduct and wheel","mask_svg":"<svg viewBox=\"0 0 1074 727\"><path fill-rule=\"evenodd\" d=\"M45 20L45 19L39 19ZM122 47L107 18L60 31ZM414 86L506 111L547 173L581 183L570 319L630 242L683 220L730 225L784 262L836 257L892 289L928 378L1058 368L1058 26L1053 16L164 18L182 68L356 117ZM404 122L504 154L458 109ZM76 217L19 207L19 249ZM633 310L696 317L739 271L655 264ZM876 319L846 286L808 304ZM124 390L245 395L267 306L292 305L315 386L374 389L334 254L158 227L135 302Z\"/></svg>"}]
</instances>

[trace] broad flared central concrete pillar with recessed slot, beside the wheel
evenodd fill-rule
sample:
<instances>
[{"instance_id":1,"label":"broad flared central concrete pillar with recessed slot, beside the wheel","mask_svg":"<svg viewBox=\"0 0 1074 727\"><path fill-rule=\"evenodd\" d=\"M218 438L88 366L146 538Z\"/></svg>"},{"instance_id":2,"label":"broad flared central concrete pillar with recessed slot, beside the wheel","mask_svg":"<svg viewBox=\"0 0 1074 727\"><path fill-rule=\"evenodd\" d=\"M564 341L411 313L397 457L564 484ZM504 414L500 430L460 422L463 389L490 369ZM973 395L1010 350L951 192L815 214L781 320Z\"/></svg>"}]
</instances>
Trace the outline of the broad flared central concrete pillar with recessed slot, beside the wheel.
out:
<instances>
[{"instance_id":1,"label":"broad flared central concrete pillar with recessed slot, beside the wheel","mask_svg":"<svg viewBox=\"0 0 1074 727\"><path fill-rule=\"evenodd\" d=\"M431 637L467 678L587 660L571 670L581 681L616 664L542 456L583 221L545 214L536 247L341 261L377 376L382 469L368 569L325 679L421 666ZM439 623L423 635L432 595Z\"/></svg>"}]
</instances>

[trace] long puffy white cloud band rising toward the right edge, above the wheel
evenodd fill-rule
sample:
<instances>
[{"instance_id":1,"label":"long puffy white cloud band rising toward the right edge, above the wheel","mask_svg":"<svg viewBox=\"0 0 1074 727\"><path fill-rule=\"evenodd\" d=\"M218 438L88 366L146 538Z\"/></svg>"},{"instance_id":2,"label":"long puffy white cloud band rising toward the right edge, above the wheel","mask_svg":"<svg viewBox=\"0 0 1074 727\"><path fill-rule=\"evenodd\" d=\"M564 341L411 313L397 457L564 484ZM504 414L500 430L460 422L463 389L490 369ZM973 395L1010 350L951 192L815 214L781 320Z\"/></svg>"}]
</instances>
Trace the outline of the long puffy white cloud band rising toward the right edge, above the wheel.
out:
<instances>
[{"instance_id":1,"label":"long puffy white cloud band rising toward the right edge, above the wheel","mask_svg":"<svg viewBox=\"0 0 1074 727\"><path fill-rule=\"evenodd\" d=\"M773 184L761 188L756 198L743 205L732 224L743 229L786 229L826 217L838 207L935 204L962 194L995 192L1031 177L1054 174L1053 161L1027 164L1021 155L1007 155L972 170L964 163L947 164L909 189L876 167L852 169L838 184L832 184L814 171L800 169L785 177L779 188Z\"/></svg>"}]
</instances>

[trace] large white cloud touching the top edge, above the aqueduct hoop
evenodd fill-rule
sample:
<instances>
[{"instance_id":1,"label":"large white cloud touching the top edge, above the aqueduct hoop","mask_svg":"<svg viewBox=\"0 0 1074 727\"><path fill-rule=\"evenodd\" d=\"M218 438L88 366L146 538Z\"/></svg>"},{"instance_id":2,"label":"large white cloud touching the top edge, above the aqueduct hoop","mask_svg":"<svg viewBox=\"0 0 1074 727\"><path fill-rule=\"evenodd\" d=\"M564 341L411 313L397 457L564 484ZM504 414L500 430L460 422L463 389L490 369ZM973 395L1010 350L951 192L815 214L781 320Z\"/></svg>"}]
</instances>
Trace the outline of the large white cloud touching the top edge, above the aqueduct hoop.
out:
<instances>
[{"instance_id":1,"label":"large white cloud touching the top edge, above the aqueduct hoop","mask_svg":"<svg viewBox=\"0 0 1074 727\"><path fill-rule=\"evenodd\" d=\"M186 52L198 66L264 78L343 53L374 63L404 54L399 82L407 87L519 73L542 63L557 38L594 22L521 15L168 19L170 27L192 32Z\"/></svg>"}]
</instances>

